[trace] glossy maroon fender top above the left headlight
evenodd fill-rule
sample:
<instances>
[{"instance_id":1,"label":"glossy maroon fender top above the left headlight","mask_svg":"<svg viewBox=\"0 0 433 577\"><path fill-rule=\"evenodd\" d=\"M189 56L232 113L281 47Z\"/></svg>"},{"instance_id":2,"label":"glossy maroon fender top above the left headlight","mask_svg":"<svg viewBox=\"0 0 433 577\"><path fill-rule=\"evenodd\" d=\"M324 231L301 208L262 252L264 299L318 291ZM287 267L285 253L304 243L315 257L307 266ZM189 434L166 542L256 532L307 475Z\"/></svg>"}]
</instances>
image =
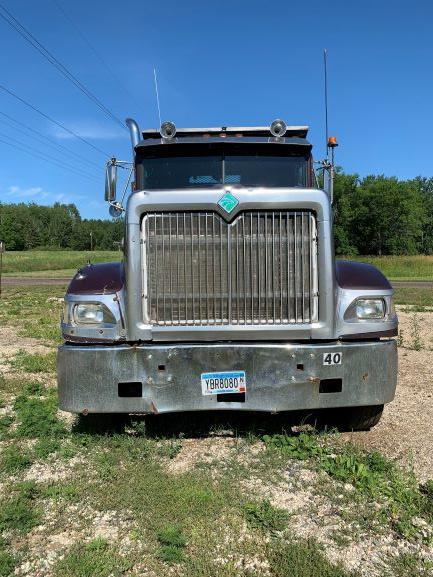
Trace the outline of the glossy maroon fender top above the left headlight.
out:
<instances>
[{"instance_id":1,"label":"glossy maroon fender top above the left headlight","mask_svg":"<svg viewBox=\"0 0 433 577\"><path fill-rule=\"evenodd\" d=\"M80 268L71 280L66 294L115 294L125 284L123 262L88 264Z\"/></svg>"}]
</instances>

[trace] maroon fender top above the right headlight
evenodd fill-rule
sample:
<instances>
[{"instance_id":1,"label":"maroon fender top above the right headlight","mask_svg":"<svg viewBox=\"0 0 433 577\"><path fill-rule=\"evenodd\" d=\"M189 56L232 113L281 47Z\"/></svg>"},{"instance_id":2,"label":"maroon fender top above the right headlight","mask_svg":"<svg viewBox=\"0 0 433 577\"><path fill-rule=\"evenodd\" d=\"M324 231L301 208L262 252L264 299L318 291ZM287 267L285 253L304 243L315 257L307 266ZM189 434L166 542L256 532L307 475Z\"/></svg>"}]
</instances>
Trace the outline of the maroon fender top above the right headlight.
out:
<instances>
[{"instance_id":1,"label":"maroon fender top above the right headlight","mask_svg":"<svg viewBox=\"0 0 433 577\"><path fill-rule=\"evenodd\" d=\"M337 260L335 262L337 283L343 289L390 290L388 279L375 266L365 262Z\"/></svg>"}]
</instances>

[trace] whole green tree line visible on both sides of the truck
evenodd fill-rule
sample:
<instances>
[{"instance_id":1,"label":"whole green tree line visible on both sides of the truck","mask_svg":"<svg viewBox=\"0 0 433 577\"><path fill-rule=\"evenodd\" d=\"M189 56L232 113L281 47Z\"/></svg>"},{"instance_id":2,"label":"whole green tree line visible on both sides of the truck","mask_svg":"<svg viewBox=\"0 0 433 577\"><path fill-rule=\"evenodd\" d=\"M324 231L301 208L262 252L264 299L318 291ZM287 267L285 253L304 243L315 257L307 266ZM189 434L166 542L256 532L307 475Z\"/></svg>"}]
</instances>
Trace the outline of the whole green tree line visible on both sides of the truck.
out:
<instances>
[{"instance_id":1,"label":"whole green tree line visible on both sides of the truck","mask_svg":"<svg viewBox=\"0 0 433 577\"><path fill-rule=\"evenodd\" d=\"M74 204L0 203L0 240L7 250L112 250L122 219L83 219ZM433 254L433 178L345 174L334 184L338 255Z\"/></svg>"}]
</instances>

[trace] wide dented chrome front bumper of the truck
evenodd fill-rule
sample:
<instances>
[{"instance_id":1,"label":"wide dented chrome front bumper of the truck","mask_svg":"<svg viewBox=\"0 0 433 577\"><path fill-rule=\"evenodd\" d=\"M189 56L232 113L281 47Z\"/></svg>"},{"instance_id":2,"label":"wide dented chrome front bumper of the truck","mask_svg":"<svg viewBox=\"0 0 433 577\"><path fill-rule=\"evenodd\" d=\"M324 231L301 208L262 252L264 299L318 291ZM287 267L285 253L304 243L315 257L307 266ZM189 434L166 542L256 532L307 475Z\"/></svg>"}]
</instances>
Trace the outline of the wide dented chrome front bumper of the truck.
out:
<instances>
[{"instance_id":1,"label":"wide dented chrome front bumper of the truck","mask_svg":"<svg viewBox=\"0 0 433 577\"><path fill-rule=\"evenodd\" d=\"M324 354L341 353L341 364ZM329 357L328 357L329 358ZM246 393L204 396L201 373L245 371ZM60 408L73 413L293 411L394 398L394 340L324 344L72 345L58 351ZM233 398L233 402L227 399Z\"/></svg>"}]
</instances>

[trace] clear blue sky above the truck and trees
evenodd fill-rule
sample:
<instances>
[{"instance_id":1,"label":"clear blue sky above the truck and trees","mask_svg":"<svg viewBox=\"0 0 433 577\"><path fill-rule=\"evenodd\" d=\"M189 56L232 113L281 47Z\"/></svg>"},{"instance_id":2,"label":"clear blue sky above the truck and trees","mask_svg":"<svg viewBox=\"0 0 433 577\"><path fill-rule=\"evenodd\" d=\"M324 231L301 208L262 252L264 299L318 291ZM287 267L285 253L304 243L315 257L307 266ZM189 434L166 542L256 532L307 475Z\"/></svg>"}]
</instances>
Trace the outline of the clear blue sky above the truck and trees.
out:
<instances>
[{"instance_id":1,"label":"clear blue sky above the truck and trees","mask_svg":"<svg viewBox=\"0 0 433 577\"><path fill-rule=\"evenodd\" d=\"M156 66L163 120L178 126L266 125L281 117L290 124L310 125L316 158L324 153L322 51L327 48L329 125L340 142L338 164L361 175L433 176L429 0L2 2L122 119L132 116L143 128L157 125ZM4 86L107 157L130 159L127 131L2 19L0 46ZM108 215L102 200L104 154L1 91L0 111L71 151L62 153L35 141L0 115L0 201L73 202L84 217ZM49 154L90 173L91 179L4 141L17 146L25 142L30 151Z\"/></svg>"}]
</instances>

